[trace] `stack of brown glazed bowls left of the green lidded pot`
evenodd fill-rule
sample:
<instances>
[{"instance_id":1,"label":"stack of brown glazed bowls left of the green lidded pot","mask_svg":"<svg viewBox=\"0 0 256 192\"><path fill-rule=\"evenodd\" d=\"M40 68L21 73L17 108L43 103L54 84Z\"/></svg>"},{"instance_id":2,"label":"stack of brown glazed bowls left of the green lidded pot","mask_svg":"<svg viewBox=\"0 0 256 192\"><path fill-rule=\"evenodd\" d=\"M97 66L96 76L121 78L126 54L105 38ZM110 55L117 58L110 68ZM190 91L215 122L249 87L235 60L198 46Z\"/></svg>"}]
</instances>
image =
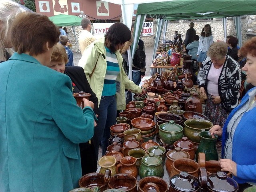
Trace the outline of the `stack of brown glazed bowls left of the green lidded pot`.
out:
<instances>
[{"instance_id":1,"label":"stack of brown glazed bowls left of the green lidded pot","mask_svg":"<svg viewBox=\"0 0 256 192\"><path fill-rule=\"evenodd\" d=\"M132 128L141 130L143 141L148 141L156 136L156 122L148 118L134 118L131 121Z\"/></svg>"}]
</instances>

